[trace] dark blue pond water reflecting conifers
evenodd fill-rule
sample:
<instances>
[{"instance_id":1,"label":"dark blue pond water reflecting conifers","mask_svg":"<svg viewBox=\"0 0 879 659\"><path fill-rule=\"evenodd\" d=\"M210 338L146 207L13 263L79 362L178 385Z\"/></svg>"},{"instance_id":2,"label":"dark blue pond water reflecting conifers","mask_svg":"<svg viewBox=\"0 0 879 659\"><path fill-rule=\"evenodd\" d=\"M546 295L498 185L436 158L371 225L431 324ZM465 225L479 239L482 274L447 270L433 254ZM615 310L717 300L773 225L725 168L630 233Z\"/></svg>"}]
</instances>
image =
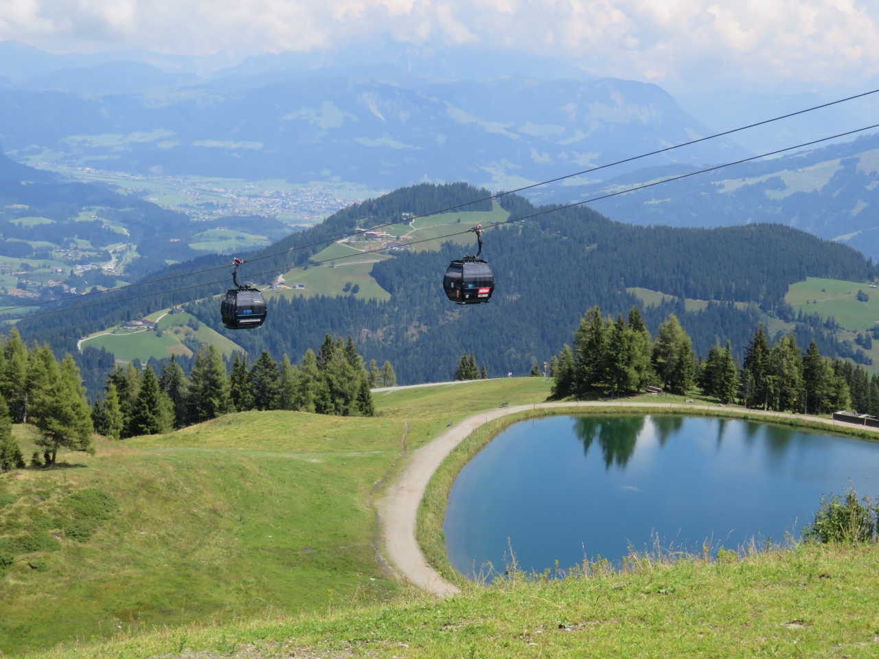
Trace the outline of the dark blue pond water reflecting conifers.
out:
<instances>
[{"instance_id":1,"label":"dark blue pond water reflecting conifers","mask_svg":"<svg viewBox=\"0 0 879 659\"><path fill-rule=\"evenodd\" d=\"M466 575L487 561L503 571L509 546L537 571L616 561L651 537L762 547L798 538L850 478L879 494L879 444L695 416L550 416L513 425L461 470L443 530Z\"/></svg>"}]
</instances>

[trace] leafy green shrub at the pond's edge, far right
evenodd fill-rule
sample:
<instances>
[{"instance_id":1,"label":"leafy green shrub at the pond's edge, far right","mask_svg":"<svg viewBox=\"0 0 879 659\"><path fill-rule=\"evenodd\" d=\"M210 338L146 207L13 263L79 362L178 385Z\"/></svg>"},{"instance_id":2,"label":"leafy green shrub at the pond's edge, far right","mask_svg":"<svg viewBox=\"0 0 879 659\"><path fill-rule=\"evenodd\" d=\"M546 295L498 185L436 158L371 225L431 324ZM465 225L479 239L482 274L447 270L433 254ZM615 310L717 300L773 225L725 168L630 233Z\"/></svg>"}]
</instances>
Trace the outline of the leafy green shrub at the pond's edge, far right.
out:
<instances>
[{"instance_id":1,"label":"leafy green shrub at the pond's edge, far right","mask_svg":"<svg viewBox=\"0 0 879 659\"><path fill-rule=\"evenodd\" d=\"M811 526L803 526L803 540L817 542L870 542L876 531L876 514L869 496L858 501L854 488L848 489L844 496L832 492L830 498L821 496L821 508L815 515Z\"/></svg>"}]
</instances>

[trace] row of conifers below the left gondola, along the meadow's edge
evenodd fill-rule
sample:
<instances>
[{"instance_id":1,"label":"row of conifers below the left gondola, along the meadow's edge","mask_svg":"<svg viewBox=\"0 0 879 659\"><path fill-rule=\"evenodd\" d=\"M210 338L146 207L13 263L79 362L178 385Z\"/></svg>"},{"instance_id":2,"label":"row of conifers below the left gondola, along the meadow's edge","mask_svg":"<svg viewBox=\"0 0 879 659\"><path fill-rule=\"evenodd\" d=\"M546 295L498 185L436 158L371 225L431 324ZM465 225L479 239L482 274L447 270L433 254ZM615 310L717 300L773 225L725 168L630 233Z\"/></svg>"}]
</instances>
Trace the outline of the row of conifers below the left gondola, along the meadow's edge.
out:
<instances>
[{"instance_id":1,"label":"row of conifers below the left gondola, along the meadow's edge","mask_svg":"<svg viewBox=\"0 0 879 659\"><path fill-rule=\"evenodd\" d=\"M201 344L187 378L176 358L163 362L160 375L152 366L115 366L103 399L92 406L95 428L116 439L153 435L199 424L230 412L291 409L339 416L373 416L370 387L393 386L393 366L369 368L351 337L347 343L326 335L317 353L310 348L301 364L287 355L275 361L267 351L248 365L236 351L227 373L222 354Z\"/></svg>"}]
</instances>

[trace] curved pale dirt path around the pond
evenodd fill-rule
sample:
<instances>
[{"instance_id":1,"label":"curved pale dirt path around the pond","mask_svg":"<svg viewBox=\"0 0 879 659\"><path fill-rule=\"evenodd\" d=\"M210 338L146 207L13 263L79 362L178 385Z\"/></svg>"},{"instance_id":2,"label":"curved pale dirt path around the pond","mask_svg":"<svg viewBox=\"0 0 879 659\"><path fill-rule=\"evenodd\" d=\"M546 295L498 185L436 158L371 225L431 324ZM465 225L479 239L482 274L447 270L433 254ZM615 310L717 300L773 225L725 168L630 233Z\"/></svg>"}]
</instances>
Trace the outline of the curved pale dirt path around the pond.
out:
<instances>
[{"instance_id":1,"label":"curved pale dirt path around the pond","mask_svg":"<svg viewBox=\"0 0 879 659\"><path fill-rule=\"evenodd\" d=\"M384 540L385 559L403 576L406 581L418 586L423 590L432 592L439 597L454 595L461 590L453 583L448 583L439 573L432 568L430 563L421 553L416 538L418 505L425 495L427 483L430 482L433 473L439 469L439 465L452 453L454 447L469 436L479 426L498 419L508 414L516 414L527 409L547 408L593 408L614 407L642 408L644 411L655 409L710 409L714 411L735 411L740 408L724 408L713 405L687 405L669 402L628 402L625 399L620 402L543 402L531 405L518 405L512 408L492 409L461 421L451 429L444 432L438 438L425 444L418 451L411 453L410 459L396 482L391 484L388 495L377 503L381 524L381 536ZM813 421L827 426L827 430L834 427L858 428L875 432L879 438L879 428L867 426L854 426L832 419L819 416L791 415L783 412L764 412L759 409L748 410L752 416L765 416L767 421L773 418L796 418L803 421Z\"/></svg>"}]
</instances>

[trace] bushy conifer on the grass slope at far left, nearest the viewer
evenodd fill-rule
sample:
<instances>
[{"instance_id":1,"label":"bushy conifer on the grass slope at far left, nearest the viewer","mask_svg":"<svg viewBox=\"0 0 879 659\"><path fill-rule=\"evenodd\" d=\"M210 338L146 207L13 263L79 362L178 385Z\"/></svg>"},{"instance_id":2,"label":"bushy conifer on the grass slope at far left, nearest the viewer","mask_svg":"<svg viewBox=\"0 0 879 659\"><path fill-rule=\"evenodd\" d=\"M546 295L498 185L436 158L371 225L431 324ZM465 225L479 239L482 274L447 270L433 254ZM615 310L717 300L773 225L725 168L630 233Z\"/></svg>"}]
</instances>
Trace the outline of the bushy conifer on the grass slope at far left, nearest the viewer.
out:
<instances>
[{"instance_id":1,"label":"bushy conifer on the grass slope at far left, nearest the viewer","mask_svg":"<svg viewBox=\"0 0 879 659\"><path fill-rule=\"evenodd\" d=\"M46 451L47 467L54 467L58 449L93 452L91 447L91 407L76 362L70 355L61 367L52 359L47 365L44 383L33 399L33 424L40 431L34 444Z\"/></svg>"}]
</instances>

